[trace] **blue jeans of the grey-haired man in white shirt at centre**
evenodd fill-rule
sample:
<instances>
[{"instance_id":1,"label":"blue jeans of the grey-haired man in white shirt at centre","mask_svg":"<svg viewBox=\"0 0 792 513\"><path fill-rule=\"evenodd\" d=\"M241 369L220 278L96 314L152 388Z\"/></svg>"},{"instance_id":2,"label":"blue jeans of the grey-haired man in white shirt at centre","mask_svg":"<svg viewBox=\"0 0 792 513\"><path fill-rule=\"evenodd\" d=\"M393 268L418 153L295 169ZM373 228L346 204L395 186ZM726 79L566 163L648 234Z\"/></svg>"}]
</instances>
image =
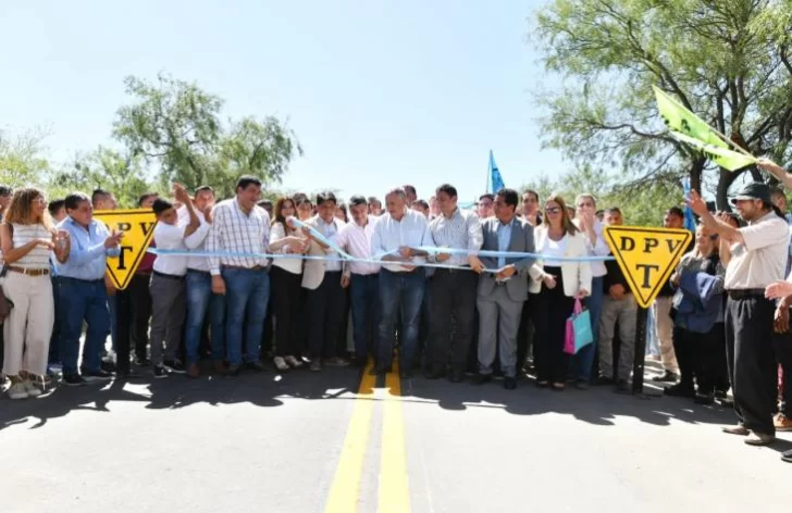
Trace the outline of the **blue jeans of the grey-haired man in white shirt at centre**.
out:
<instances>
[{"instance_id":1,"label":"blue jeans of the grey-haired man in white shirt at centre","mask_svg":"<svg viewBox=\"0 0 792 513\"><path fill-rule=\"evenodd\" d=\"M384 370L393 362L396 317L401 312L399 329L399 366L403 372L412 370L418 323L423 301L426 272L418 267L410 273L380 271L380 308L382 318L378 330L376 366Z\"/></svg>"}]
</instances>

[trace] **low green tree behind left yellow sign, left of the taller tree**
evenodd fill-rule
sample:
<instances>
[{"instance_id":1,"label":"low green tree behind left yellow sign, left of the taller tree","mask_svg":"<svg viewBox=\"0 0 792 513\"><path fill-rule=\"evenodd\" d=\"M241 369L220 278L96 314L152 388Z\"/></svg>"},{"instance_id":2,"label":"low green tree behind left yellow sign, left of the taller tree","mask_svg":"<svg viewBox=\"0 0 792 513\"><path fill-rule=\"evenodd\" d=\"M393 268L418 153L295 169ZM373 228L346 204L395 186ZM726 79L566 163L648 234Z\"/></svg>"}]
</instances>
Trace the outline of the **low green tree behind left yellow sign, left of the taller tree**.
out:
<instances>
[{"instance_id":1,"label":"low green tree behind left yellow sign, left of the taller tree","mask_svg":"<svg viewBox=\"0 0 792 513\"><path fill-rule=\"evenodd\" d=\"M95 189L104 189L115 196L120 208L134 209L144 192L157 190L146 177L140 157L99 147L91 153L77 155L70 170L55 173L49 188L50 195L58 197L73 191L90 195Z\"/></svg>"}]
</instances>

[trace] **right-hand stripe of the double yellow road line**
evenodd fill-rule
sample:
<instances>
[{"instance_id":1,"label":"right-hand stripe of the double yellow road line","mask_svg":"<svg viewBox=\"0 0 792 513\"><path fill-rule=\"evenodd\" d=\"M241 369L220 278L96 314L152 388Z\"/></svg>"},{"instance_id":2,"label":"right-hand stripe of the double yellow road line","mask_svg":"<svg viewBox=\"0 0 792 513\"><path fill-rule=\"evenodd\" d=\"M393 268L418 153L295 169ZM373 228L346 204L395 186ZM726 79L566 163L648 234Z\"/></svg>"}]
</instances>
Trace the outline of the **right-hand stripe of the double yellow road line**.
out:
<instances>
[{"instance_id":1,"label":"right-hand stripe of the double yellow road line","mask_svg":"<svg viewBox=\"0 0 792 513\"><path fill-rule=\"evenodd\" d=\"M382 420L382 461L380 463L380 513L410 511L410 493L407 481L405 454L405 427L401 417L401 383L398 359L394 359L393 372L385 376L385 396Z\"/></svg>"}]
</instances>

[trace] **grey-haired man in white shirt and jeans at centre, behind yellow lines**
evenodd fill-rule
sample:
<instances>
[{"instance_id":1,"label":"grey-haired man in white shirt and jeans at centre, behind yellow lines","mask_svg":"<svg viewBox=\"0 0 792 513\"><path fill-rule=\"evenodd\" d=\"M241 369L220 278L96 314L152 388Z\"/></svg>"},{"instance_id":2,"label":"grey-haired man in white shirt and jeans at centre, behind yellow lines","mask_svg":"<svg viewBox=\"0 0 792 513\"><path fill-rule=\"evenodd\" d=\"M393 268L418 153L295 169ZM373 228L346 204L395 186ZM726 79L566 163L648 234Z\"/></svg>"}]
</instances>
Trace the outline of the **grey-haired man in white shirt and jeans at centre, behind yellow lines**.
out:
<instances>
[{"instance_id":1,"label":"grey-haired man in white shirt and jeans at centre, behind yellow lines","mask_svg":"<svg viewBox=\"0 0 792 513\"><path fill-rule=\"evenodd\" d=\"M391 190L385 197L384 214L374 226L371 252L383 262L380 271L380 325L376 341L375 374L388 372L393 362L396 318L401 313L399 374L412 377L418 343L418 322L425 288L425 268L414 265L425 259L417 250L431 240L426 217L407 208L405 189Z\"/></svg>"}]
</instances>

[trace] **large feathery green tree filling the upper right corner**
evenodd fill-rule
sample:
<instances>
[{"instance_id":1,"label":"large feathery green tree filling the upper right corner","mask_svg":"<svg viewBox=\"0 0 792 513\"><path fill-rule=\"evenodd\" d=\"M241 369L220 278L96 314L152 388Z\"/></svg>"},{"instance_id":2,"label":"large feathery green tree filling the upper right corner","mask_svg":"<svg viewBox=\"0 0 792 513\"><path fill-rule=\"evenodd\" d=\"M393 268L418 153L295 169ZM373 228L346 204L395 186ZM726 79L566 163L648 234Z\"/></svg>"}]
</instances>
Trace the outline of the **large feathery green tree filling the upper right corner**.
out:
<instances>
[{"instance_id":1,"label":"large feathery green tree filling the upper right corner","mask_svg":"<svg viewBox=\"0 0 792 513\"><path fill-rule=\"evenodd\" d=\"M579 165L618 168L622 185L708 183L727 209L741 173L671 138L651 86L753 154L788 159L790 8L790 0L550 1L535 16L535 36L546 68L566 80L540 96L544 143Z\"/></svg>"}]
</instances>

